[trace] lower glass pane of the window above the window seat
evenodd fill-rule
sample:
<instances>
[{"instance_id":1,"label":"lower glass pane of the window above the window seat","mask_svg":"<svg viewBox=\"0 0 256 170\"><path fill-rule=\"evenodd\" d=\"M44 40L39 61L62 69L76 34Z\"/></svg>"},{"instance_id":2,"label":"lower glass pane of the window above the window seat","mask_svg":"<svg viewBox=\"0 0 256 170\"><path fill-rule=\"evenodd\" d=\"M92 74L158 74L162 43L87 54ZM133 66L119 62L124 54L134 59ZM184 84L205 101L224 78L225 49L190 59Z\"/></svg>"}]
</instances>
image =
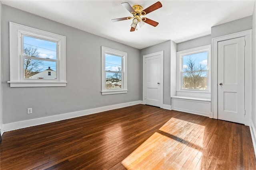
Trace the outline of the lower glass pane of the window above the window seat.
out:
<instances>
[{"instance_id":1,"label":"lower glass pane of the window above the window seat","mask_svg":"<svg viewBox=\"0 0 256 170\"><path fill-rule=\"evenodd\" d=\"M183 89L207 90L207 71L184 72Z\"/></svg>"}]
</instances>

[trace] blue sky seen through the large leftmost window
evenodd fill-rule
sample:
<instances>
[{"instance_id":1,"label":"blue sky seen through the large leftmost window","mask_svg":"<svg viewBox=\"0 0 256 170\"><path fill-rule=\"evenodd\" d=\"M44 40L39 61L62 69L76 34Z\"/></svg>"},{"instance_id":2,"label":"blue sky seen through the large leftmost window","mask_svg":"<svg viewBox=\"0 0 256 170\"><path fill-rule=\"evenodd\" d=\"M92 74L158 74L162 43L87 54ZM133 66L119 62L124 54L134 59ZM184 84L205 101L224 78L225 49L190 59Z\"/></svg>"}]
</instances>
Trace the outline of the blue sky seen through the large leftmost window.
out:
<instances>
[{"instance_id":1,"label":"blue sky seen through the large leftmost window","mask_svg":"<svg viewBox=\"0 0 256 170\"><path fill-rule=\"evenodd\" d=\"M37 52L39 52L38 55L40 58L56 60L56 42L46 41L28 36L24 36L23 41L24 47L31 45L32 47L37 48ZM41 68L42 71L48 69L48 67L56 71L56 62L42 61L42 65L38 66L38 68Z\"/></svg>"}]
</instances>

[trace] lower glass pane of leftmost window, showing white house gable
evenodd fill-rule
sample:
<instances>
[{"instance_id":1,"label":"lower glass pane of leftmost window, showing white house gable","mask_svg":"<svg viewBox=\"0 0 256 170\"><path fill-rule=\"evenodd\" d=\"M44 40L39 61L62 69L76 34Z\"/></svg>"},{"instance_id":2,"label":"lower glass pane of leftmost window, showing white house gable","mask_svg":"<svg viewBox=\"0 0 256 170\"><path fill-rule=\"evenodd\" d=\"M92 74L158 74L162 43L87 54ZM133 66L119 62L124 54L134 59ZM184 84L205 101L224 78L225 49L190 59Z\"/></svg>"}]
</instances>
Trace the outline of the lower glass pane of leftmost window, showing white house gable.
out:
<instances>
[{"instance_id":1,"label":"lower glass pane of leftmost window, showing white house gable","mask_svg":"<svg viewBox=\"0 0 256 170\"><path fill-rule=\"evenodd\" d=\"M56 79L56 62L25 58L24 78Z\"/></svg>"}]
</instances>

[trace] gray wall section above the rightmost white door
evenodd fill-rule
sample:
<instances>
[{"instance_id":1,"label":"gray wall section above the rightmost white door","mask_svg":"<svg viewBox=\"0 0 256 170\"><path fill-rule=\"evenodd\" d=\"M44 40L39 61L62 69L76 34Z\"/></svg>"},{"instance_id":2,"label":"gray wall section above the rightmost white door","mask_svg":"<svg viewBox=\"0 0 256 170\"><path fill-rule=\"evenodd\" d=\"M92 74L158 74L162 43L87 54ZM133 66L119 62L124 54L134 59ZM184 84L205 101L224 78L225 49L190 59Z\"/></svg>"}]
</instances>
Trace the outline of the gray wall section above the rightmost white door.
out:
<instances>
[{"instance_id":1,"label":"gray wall section above the rightmost white door","mask_svg":"<svg viewBox=\"0 0 256 170\"><path fill-rule=\"evenodd\" d=\"M252 29L252 16L240 18L212 27L212 38Z\"/></svg>"}]
</instances>

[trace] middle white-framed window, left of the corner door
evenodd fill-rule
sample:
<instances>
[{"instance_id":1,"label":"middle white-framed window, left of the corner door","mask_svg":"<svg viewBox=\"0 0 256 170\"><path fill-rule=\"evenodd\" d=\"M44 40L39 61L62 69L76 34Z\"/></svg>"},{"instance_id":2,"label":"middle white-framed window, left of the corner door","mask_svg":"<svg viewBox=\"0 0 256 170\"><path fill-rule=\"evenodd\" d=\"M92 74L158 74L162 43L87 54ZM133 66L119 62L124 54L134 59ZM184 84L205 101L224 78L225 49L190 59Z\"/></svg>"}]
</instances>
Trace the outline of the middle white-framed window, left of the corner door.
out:
<instances>
[{"instance_id":1,"label":"middle white-framed window, left of the corner door","mask_svg":"<svg viewBox=\"0 0 256 170\"><path fill-rule=\"evenodd\" d=\"M102 95L127 93L127 53L102 47Z\"/></svg>"}]
</instances>

